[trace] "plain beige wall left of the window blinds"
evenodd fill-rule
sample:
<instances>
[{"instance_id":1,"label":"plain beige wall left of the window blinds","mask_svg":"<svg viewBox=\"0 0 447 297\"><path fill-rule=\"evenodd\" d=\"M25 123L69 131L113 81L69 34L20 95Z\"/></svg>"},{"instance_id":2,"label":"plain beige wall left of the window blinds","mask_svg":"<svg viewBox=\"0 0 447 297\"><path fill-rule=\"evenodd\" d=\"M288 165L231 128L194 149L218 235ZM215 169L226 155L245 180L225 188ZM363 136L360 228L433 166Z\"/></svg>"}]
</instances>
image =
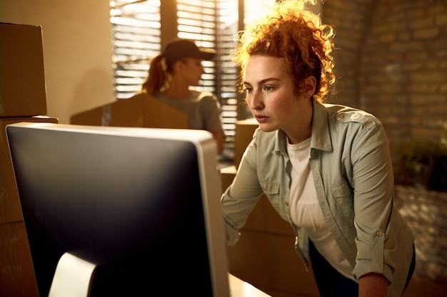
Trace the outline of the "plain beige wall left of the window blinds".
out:
<instances>
[{"instance_id":1,"label":"plain beige wall left of the window blinds","mask_svg":"<svg viewBox=\"0 0 447 297\"><path fill-rule=\"evenodd\" d=\"M114 100L109 0L0 0L0 21L41 25L47 115L68 124Z\"/></svg>"}]
</instances>

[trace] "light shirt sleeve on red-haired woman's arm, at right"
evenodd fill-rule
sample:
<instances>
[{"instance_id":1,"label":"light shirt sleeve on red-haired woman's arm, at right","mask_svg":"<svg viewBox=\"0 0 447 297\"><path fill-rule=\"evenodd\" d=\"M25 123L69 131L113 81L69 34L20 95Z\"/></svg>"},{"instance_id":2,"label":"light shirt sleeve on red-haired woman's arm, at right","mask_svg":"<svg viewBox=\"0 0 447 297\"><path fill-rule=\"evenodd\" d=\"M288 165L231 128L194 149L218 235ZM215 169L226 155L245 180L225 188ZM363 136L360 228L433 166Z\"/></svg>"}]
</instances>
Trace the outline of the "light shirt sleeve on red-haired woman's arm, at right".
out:
<instances>
[{"instance_id":1,"label":"light shirt sleeve on red-haired woman's arm, at right","mask_svg":"<svg viewBox=\"0 0 447 297\"><path fill-rule=\"evenodd\" d=\"M394 192L391 153L383 125L362 133L351 151L358 250L353 275L360 278L369 272L382 273L391 281L395 267L387 250L396 249L396 234L388 232Z\"/></svg>"}]
</instances>

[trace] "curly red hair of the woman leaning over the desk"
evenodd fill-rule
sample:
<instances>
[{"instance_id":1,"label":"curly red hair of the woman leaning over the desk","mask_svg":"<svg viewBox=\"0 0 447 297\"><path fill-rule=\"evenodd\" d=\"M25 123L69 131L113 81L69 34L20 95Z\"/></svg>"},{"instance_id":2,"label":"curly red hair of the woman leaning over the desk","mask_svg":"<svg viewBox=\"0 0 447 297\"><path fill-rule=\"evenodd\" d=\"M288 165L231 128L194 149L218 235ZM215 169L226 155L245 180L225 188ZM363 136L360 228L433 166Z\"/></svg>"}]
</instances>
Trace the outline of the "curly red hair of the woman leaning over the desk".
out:
<instances>
[{"instance_id":1,"label":"curly red hair of the woman leaning over the desk","mask_svg":"<svg viewBox=\"0 0 447 297\"><path fill-rule=\"evenodd\" d=\"M295 92L303 88L303 80L313 75L316 92L313 99L324 101L329 85L335 82L333 74L332 26L321 24L321 19L306 9L315 0L276 1L271 14L253 21L241 31L238 45L231 54L241 69L241 86L248 58L255 55L284 58L288 70L295 78Z\"/></svg>"}]
</instances>

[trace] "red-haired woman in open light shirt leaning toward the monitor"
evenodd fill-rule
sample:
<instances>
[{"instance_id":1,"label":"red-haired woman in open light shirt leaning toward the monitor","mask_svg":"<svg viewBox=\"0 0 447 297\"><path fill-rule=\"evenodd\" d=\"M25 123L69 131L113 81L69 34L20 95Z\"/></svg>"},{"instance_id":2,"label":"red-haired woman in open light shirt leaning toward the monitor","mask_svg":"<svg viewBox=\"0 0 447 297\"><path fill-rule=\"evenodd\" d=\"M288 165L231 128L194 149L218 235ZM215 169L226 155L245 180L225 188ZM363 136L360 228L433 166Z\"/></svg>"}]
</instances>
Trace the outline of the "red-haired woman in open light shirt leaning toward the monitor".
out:
<instances>
[{"instance_id":1,"label":"red-haired woman in open light shirt leaning toward the monitor","mask_svg":"<svg viewBox=\"0 0 447 297\"><path fill-rule=\"evenodd\" d=\"M415 253L393 200L386 133L363 110L324 103L335 32L306 9L315 2L276 1L232 54L259 127L221 197L228 244L265 194L321 297L402 296Z\"/></svg>"}]
</instances>

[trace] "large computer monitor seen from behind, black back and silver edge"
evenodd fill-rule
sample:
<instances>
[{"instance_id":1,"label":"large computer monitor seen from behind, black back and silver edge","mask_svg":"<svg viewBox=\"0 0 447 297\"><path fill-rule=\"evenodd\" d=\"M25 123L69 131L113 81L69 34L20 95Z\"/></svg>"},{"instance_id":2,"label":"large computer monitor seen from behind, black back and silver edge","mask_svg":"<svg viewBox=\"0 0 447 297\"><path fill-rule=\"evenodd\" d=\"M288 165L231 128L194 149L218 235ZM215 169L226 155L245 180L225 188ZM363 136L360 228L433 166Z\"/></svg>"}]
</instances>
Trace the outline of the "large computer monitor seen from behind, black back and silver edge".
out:
<instances>
[{"instance_id":1,"label":"large computer monitor seen from behind, black back and silver edge","mask_svg":"<svg viewBox=\"0 0 447 297\"><path fill-rule=\"evenodd\" d=\"M83 279L93 297L229 296L211 133L17 123L6 135L41 297Z\"/></svg>"}]
</instances>

